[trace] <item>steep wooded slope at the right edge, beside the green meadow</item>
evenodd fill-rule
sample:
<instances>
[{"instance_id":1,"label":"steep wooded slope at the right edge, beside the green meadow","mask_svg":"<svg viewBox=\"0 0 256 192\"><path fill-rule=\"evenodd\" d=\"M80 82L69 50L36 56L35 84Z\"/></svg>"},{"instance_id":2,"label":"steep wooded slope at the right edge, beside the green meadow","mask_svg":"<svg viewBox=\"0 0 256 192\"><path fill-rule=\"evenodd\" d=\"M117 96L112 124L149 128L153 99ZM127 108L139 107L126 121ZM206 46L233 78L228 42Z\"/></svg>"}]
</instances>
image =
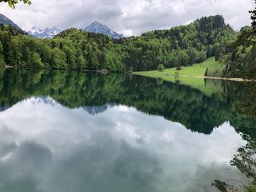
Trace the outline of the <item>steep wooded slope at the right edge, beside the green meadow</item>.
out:
<instances>
[{"instance_id":1,"label":"steep wooded slope at the right edge, beside the green meadow","mask_svg":"<svg viewBox=\"0 0 256 192\"><path fill-rule=\"evenodd\" d=\"M255 1L256 4L256 1ZM250 11L252 26L241 28L241 34L220 59L221 67L208 76L256 79L256 8Z\"/></svg>"}]
</instances>

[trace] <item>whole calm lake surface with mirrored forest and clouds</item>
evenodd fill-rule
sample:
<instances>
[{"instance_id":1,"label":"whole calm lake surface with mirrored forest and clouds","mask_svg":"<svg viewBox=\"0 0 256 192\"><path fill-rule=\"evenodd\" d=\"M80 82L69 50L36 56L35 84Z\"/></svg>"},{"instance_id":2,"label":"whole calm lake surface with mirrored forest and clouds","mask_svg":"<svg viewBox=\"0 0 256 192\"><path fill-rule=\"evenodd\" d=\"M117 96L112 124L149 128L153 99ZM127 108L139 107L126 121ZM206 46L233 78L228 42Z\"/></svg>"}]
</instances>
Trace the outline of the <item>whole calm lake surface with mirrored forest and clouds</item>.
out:
<instances>
[{"instance_id":1,"label":"whole calm lake surface with mirrored forest and clouds","mask_svg":"<svg viewBox=\"0 0 256 192\"><path fill-rule=\"evenodd\" d=\"M248 83L13 69L0 79L0 191L206 192L254 179L238 161L256 136L242 112Z\"/></svg>"}]
</instances>

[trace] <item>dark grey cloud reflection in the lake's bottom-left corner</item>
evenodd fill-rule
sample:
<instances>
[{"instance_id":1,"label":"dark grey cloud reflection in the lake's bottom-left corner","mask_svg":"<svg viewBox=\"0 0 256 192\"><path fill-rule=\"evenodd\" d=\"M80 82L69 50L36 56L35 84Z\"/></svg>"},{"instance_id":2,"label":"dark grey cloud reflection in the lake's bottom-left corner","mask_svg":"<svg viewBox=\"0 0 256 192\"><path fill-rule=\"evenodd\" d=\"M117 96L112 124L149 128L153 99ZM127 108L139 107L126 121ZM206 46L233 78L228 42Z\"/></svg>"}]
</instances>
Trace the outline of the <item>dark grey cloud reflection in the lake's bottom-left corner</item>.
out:
<instances>
[{"instance_id":1,"label":"dark grey cloud reflection in the lake's bottom-left corner","mask_svg":"<svg viewBox=\"0 0 256 192\"><path fill-rule=\"evenodd\" d=\"M36 142L23 142L9 154L0 163L1 191L39 191L39 181L51 160L50 150Z\"/></svg>"}]
</instances>

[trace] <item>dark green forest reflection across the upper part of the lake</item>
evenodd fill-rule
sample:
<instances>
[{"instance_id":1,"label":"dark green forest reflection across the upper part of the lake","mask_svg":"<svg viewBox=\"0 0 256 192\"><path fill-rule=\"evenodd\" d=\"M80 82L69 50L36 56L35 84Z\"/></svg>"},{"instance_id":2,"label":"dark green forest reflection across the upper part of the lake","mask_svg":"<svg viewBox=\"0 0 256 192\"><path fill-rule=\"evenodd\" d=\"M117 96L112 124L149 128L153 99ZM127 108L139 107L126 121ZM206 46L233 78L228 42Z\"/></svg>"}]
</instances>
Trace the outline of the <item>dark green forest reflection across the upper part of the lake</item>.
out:
<instances>
[{"instance_id":1,"label":"dark green forest reflection across the upper part of the lake","mask_svg":"<svg viewBox=\"0 0 256 192\"><path fill-rule=\"evenodd\" d=\"M96 112L106 104L124 104L203 134L211 134L228 121L248 142L238 149L231 164L256 183L255 83L205 80L214 89L206 96L178 82L127 74L7 69L0 78L0 110L31 96L50 96L64 107L94 107Z\"/></svg>"}]
</instances>

